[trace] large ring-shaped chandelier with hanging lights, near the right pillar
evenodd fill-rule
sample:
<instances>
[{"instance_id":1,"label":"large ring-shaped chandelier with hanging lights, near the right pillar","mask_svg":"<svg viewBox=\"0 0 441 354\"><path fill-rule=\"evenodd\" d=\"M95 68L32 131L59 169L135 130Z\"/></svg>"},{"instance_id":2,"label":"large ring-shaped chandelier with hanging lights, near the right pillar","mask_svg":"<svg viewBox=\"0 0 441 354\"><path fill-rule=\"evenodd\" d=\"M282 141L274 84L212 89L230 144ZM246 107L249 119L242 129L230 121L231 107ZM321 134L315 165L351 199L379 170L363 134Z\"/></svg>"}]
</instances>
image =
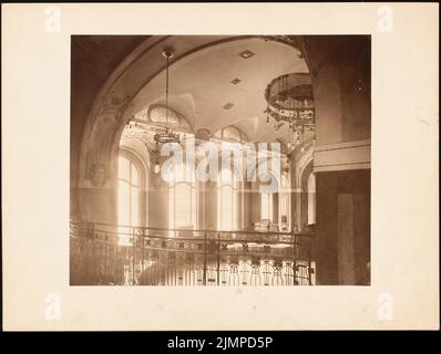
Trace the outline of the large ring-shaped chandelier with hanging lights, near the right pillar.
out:
<instances>
[{"instance_id":1,"label":"large ring-shaped chandelier with hanging lights, near the right pillar","mask_svg":"<svg viewBox=\"0 0 441 354\"><path fill-rule=\"evenodd\" d=\"M309 74L290 73L273 80L265 91L267 123L274 119L276 131L287 124L293 132L293 145L314 135L316 127L312 85ZM300 142L301 138L301 142Z\"/></svg>"}]
</instances>

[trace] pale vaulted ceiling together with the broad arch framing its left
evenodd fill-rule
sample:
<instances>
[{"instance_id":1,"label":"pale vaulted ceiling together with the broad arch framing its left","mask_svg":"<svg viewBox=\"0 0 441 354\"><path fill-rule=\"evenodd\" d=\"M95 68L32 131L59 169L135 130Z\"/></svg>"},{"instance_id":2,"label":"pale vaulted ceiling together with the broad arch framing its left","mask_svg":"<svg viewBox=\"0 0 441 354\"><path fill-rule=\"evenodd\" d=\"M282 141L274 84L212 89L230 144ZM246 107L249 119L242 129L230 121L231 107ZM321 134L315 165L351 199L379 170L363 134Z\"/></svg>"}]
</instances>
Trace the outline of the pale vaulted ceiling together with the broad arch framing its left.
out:
<instances>
[{"instance_id":1,"label":"pale vaulted ceiling together with the broad arch framing its left","mask_svg":"<svg viewBox=\"0 0 441 354\"><path fill-rule=\"evenodd\" d=\"M154 35L129 53L96 93L83 129L80 176L88 178L94 164L107 165L109 152L116 152L124 126L136 112L164 102L164 48L175 53L171 107L194 132L215 133L234 124L250 140L289 139L288 128L276 132L263 111L265 88L273 79L308 72L296 45L260 35ZM228 104L233 106L227 108Z\"/></svg>"}]
</instances>

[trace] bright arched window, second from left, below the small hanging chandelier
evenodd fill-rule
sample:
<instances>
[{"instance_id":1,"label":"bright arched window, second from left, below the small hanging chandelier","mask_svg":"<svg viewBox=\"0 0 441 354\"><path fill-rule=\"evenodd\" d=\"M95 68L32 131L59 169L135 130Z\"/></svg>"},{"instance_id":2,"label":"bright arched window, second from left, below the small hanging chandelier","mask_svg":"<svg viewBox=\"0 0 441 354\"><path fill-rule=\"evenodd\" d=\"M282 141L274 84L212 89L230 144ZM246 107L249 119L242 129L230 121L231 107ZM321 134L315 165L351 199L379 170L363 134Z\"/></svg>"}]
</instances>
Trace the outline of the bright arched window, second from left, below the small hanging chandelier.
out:
<instances>
[{"instance_id":1,"label":"bright arched window, second from left, below the small hanging chandelier","mask_svg":"<svg viewBox=\"0 0 441 354\"><path fill-rule=\"evenodd\" d=\"M172 167L170 186L170 228L196 229L197 190L195 173L187 165Z\"/></svg>"}]
</instances>

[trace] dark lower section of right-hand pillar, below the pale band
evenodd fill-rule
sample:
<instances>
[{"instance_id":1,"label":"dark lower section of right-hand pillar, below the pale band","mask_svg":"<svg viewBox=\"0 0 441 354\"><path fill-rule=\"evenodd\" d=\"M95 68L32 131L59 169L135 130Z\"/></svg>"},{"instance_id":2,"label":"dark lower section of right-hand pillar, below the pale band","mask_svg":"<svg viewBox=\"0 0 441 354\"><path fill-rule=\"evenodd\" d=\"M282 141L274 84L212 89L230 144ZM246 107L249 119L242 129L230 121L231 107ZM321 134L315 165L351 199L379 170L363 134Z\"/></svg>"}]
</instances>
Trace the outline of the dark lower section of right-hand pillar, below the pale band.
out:
<instances>
[{"instance_id":1,"label":"dark lower section of right-hand pillar, below the pale band","mask_svg":"<svg viewBox=\"0 0 441 354\"><path fill-rule=\"evenodd\" d=\"M370 169L316 176L318 284L370 284Z\"/></svg>"}]
</instances>

